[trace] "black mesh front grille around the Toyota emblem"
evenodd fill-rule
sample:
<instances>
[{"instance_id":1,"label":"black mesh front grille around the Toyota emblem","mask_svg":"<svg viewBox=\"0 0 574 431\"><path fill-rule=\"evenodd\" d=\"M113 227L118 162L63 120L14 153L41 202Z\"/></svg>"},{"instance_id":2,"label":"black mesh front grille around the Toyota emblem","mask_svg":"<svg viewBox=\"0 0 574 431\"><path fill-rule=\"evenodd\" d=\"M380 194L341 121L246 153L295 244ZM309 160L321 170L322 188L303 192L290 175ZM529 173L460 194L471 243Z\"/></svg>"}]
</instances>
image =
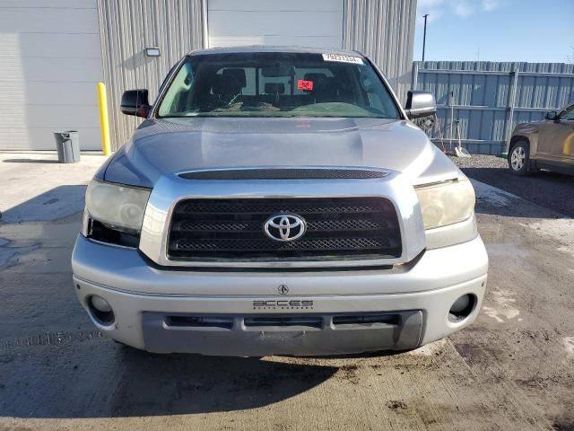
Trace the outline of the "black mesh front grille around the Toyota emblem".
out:
<instances>
[{"instance_id":1,"label":"black mesh front grille around the Toyota emblem","mask_svg":"<svg viewBox=\"0 0 574 431\"><path fill-rule=\"evenodd\" d=\"M265 221L294 214L300 239L267 237ZM386 259L401 255L393 205L386 198L186 199L174 208L170 259Z\"/></svg>"}]
</instances>

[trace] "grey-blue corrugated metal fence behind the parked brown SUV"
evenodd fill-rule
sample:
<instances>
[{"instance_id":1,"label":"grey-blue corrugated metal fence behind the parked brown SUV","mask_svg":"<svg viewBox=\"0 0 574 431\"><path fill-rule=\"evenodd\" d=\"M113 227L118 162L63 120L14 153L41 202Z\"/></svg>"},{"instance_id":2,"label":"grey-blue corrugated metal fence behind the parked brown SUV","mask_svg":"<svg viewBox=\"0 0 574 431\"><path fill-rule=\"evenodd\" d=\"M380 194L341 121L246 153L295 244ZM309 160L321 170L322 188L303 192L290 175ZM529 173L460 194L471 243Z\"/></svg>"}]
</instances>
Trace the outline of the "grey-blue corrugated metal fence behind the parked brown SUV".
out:
<instances>
[{"instance_id":1,"label":"grey-blue corrugated metal fence behind the parked brown SUV","mask_svg":"<svg viewBox=\"0 0 574 431\"><path fill-rule=\"evenodd\" d=\"M415 61L412 88L432 92L437 124L449 149L457 137L471 153L507 151L517 123L544 119L574 101L574 65L564 63L497 63L490 61Z\"/></svg>"}]
</instances>

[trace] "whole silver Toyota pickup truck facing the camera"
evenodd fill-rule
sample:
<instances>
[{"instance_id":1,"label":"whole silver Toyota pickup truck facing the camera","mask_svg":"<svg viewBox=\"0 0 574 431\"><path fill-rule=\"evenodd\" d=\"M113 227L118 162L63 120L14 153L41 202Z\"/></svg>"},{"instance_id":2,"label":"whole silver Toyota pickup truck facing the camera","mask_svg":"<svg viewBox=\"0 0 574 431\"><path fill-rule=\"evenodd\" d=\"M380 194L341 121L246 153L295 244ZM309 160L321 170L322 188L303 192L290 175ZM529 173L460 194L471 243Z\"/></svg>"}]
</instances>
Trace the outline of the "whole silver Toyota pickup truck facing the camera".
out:
<instances>
[{"instance_id":1,"label":"whole silver Toyota pickup truck facing the camera","mask_svg":"<svg viewBox=\"0 0 574 431\"><path fill-rule=\"evenodd\" d=\"M86 192L72 257L91 321L158 353L407 350L479 312L470 181L357 52L194 51Z\"/></svg>"}]
</instances>

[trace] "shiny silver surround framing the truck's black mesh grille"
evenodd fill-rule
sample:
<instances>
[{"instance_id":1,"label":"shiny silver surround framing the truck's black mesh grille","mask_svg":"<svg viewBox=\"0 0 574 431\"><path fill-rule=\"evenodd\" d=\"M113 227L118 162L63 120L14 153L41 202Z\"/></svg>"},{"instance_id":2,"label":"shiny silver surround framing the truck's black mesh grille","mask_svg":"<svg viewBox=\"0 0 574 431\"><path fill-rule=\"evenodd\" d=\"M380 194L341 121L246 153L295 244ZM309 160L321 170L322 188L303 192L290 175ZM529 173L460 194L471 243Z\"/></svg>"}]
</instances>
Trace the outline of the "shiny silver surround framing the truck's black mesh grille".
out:
<instances>
[{"instance_id":1,"label":"shiny silver surround framing the truck's black mesh grille","mask_svg":"<svg viewBox=\"0 0 574 431\"><path fill-rule=\"evenodd\" d=\"M369 168L372 169L372 168ZM412 183L398 172L370 180L185 180L165 174L157 180L143 218L139 250L161 267L200 268L355 268L406 263L425 247L425 234L418 198ZM185 199L235 198L387 198L397 215L402 242L399 257L386 259L170 259L170 221L178 203ZM209 223L218 223L209 221ZM221 229L237 226L222 224Z\"/></svg>"}]
</instances>

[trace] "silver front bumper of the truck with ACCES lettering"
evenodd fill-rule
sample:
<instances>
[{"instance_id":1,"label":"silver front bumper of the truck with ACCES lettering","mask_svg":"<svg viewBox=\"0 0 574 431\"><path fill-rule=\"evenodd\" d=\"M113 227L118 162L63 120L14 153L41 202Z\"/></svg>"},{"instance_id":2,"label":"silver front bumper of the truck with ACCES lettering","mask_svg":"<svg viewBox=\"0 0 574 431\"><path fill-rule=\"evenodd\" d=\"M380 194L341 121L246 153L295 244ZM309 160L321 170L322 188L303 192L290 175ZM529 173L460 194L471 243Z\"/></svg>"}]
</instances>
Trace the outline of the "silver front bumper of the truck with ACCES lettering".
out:
<instances>
[{"instance_id":1,"label":"silver front bumper of the truck with ACCES lettering","mask_svg":"<svg viewBox=\"0 0 574 431\"><path fill-rule=\"evenodd\" d=\"M72 265L76 293L94 324L127 345L161 353L305 356L403 350L464 328L480 309L488 257L476 237L392 269L166 270L138 251L80 235ZM474 296L474 309L450 321L451 305L466 294ZM113 324L94 318L91 295L109 302Z\"/></svg>"}]
</instances>

